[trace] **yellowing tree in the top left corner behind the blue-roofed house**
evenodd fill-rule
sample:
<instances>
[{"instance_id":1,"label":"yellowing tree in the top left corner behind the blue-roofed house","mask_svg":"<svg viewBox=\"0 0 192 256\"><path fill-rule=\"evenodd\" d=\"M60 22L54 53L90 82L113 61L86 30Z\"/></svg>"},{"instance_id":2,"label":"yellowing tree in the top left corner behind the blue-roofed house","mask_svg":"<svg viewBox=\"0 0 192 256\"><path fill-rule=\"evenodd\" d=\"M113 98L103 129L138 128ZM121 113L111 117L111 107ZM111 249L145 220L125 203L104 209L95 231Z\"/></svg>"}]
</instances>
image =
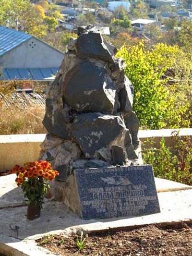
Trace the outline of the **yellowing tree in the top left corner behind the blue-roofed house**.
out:
<instances>
[{"instance_id":1,"label":"yellowing tree in the top left corner behind the blue-roofed house","mask_svg":"<svg viewBox=\"0 0 192 256\"><path fill-rule=\"evenodd\" d=\"M32 4L30 0L0 0L0 24L9 22L11 28L22 30L36 37L54 31L61 18L58 8L47 1Z\"/></svg>"}]
</instances>

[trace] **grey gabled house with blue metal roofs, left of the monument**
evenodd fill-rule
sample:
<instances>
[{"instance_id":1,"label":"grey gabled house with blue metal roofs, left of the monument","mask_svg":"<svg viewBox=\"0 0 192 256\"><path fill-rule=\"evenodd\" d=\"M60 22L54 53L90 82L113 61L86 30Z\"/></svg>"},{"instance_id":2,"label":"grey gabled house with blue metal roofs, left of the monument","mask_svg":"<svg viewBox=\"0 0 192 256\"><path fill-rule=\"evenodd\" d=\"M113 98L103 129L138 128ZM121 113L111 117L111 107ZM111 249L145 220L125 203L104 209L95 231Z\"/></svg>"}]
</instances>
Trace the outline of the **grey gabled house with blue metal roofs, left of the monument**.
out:
<instances>
[{"instance_id":1,"label":"grey gabled house with blue metal roofs, left of the monument","mask_svg":"<svg viewBox=\"0 0 192 256\"><path fill-rule=\"evenodd\" d=\"M62 52L36 37L0 26L0 80L50 82L63 58Z\"/></svg>"}]
</instances>

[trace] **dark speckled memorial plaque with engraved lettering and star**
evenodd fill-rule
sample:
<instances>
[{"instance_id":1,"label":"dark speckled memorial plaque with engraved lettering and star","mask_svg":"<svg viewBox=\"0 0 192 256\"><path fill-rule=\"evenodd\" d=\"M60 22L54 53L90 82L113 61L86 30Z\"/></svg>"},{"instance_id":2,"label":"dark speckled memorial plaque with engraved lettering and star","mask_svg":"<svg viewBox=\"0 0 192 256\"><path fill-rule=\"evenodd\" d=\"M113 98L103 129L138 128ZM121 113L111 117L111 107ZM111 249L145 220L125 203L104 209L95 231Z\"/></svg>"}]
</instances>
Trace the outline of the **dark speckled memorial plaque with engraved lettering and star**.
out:
<instances>
[{"instance_id":1,"label":"dark speckled memorial plaque with engraved lettering and star","mask_svg":"<svg viewBox=\"0 0 192 256\"><path fill-rule=\"evenodd\" d=\"M151 165L78 169L74 175L83 219L160 212Z\"/></svg>"}]
</instances>

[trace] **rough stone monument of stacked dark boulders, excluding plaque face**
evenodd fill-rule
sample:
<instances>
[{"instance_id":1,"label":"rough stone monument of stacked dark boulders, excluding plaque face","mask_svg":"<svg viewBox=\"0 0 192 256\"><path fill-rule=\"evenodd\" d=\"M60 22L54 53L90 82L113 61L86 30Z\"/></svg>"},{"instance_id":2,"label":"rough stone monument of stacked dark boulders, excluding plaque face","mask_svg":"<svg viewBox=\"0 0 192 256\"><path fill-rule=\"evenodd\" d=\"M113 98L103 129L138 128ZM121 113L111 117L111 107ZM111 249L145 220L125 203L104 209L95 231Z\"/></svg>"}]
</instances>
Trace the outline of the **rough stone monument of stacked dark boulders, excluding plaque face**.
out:
<instances>
[{"instance_id":1,"label":"rough stone monument of stacked dark boulders, excluding plaque face","mask_svg":"<svg viewBox=\"0 0 192 256\"><path fill-rule=\"evenodd\" d=\"M93 28L78 28L47 92L40 158L60 171L51 194L83 218L77 170L142 164L133 86L116 52Z\"/></svg>"}]
</instances>

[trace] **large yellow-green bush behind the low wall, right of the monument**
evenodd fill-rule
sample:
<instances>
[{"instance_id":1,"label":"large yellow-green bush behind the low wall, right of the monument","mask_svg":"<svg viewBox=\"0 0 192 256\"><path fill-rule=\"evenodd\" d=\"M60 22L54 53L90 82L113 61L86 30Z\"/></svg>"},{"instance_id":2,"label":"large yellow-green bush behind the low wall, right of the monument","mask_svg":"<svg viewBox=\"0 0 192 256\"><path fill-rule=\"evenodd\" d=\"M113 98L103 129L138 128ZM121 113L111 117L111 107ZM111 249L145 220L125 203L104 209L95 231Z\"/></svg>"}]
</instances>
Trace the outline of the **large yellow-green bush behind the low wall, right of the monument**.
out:
<instances>
[{"instance_id":1,"label":"large yellow-green bush behind the low wall, right of the monument","mask_svg":"<svg viewBox=\"0 0 192 256\"><path fill-rule=\"evenodd\" d=\"M192 65L178 46L157 44L149 50L140 42L121 48L118 57L125 61L125 73L134 86L133 110L141 126L161 129L190 125ZM182 69L178 72L179 66Z\"/></svg>"}]
</instances>

